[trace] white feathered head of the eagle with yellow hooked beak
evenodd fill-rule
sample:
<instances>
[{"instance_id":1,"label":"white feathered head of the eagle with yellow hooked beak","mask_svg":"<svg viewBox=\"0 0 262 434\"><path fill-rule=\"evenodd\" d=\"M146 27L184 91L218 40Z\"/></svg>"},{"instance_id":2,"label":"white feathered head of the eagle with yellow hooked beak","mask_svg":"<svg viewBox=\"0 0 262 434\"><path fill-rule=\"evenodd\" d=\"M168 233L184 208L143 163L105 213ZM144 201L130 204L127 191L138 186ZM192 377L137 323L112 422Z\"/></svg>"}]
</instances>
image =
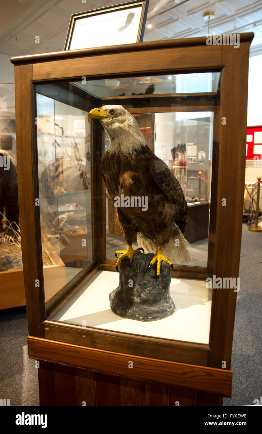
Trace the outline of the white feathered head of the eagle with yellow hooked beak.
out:
<instances>
[{"instance_id":1,"label":"white feathered head of the eagle with yellow hooked beak","mask_svg":"<svg viewBox=\"0 0 262 434\"><path fill-rule=\"evenodd\" d=\"M90 118L99 119L109 135L109 152L133 155L147 146L135 118L122 105L103 105L90 110Z\"/></svg>"}]
</instances>

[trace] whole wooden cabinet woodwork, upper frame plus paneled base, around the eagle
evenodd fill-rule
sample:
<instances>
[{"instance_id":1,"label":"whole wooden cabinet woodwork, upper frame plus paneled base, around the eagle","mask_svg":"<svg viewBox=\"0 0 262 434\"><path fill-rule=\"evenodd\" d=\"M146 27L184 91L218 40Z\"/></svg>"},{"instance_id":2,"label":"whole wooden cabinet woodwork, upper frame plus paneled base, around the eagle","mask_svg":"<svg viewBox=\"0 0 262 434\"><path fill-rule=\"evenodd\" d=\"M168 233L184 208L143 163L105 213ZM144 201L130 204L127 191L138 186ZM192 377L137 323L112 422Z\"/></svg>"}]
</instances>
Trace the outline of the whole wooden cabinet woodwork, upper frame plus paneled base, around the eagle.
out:
<instances>
[{"instance_id":1,"label":"whole wooden cabinet woodwork, upper frame plus paneled base, around the eagle","mask_svg":"<svg viewBox=\"0 0 262 434\"><path fill-rule=\"evenodd\" d=\"M172 276L205 282L237 277L242 233L246 155L249 46L253 33L240 35L240 47L208 46L206 38L145 42L13 57L22 255L29 326L29 357L40 361L42 405L221 405L231 395L231 350L237 293L212 290L206 343L121 332L101 326L54 320L80 285L96 273L117 276L106 258L105 186L99 168L105 152L102 126L91 122L91 204L93 259L58 288L46 305L38 197L36 96L63 101L86 113L102 104L122 104L140 113L213 112L213 156L207 266L174 266ZM93 79L219 73L212 92L99 96L75 83ZM40 86L40 87L39 87ZM42 90L41 90L42 89ZM197 90L197 89L196 89ZM226 125L222 124L226 118ZM233 161L233 164L232 164ZM226 198L227 206L221 206ZM35 279L40 280L35 290ZM112 288L114 289L114 288ZM102 287L97 287L100 297ZM87 306L86 306L87 307ZM186 310L186 309L184 309ZM100 312L101 313L101 312ZM102 315L102 313L101 313ZM174 314L176 316L176 313ZM125 320L124 320L125 321ZM201 318L202 321L202 318ZM199 317L199 321L200 317ZM197 324L196 324L197 325ZM194 328L194 327L192 327ZM128 368L130 361L133 368ZM222 368L225 366L226 368ZM66 393L65 393L66 390Z\"/></svg>"}]
</instances>

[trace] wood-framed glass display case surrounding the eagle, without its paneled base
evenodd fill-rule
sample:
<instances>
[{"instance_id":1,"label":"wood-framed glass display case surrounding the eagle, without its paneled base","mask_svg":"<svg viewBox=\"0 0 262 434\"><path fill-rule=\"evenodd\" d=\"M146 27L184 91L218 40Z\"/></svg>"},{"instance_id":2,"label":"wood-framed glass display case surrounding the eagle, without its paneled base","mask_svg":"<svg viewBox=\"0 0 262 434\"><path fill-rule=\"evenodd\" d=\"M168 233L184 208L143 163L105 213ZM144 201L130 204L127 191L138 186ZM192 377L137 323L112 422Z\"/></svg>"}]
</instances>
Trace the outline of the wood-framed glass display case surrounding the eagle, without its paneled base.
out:
<instances>
[{"instance_id":1,"label":"wood-framed glass display case surrounding the eagle, without its paneled base","mask_svg":"<svg viewBox=\"0 0 262 434\"><path fill-rule=\"evenodd\" d=\"M214 393L230 394L239 287L220 289L216 279L238 276L252 34L241 35L239 50L207 46L205 40L12 59L20 117L19 201L32 357L41 359L45 340L53 349L61 342L88 349L93 365L79 362L82 368L96 370L95 350L121 354L126 360L133 355L140 362L162 361L158 380L144 368L124 372L122 356L111 370L109 355L101 362L106 367L99 366L114 375L171 381L209 392L211 372ZM88 122L91 110L107 105L121 105L134 117L147 146L179 181L187 202L184 236L192 263L173 260L170 295L176 311L158 321L121 318L109 306L109 294L119 283L115 251L125 249L126 243L114 197L100 170L109 137L98 119ZM30 123L22 122L22 107ZM51 289L42 264L42 251L50 245L61 269ZM137 247L139 243L133 244ZM50 357L42 359L62 363ZM74 365L71 356L66 357L64 362ZM174 363L206 368L201 385L173 376ZM167 380L164 370L169 368Z\"/></svg>"}]
</instances>

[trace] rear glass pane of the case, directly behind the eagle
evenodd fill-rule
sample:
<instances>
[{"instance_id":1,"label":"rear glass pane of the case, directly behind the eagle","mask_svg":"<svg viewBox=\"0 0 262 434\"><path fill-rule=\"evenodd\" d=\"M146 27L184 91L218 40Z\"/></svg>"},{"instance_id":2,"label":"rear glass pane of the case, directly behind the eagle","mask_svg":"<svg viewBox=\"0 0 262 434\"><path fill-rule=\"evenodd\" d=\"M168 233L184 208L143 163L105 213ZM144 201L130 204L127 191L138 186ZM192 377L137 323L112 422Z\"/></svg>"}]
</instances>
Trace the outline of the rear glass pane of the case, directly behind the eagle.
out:
<instances>
[{"instance_id":1,"label":"rear glass pane of the case, directly behind the eagle","mask_svg":"<svg viewBox=\"0 0 262 434\"><path fill-rule=\"evenodd\" d=\"M208 263L208 229L211 198L213 141L212 112L173 112L134 114L147 145L163 160L182 186L189 209L184 237L189 241L191 266ZM105 150L109 147L106 135ZM201 172L201 173L199 173ZM199 175L201 178L199 178ZM126 243L117 221L115 201L106 191L106 257L115 258L115 250ZM134 243L137 248L137 244ZM174 264L181 262L173 260Z\"/></svg>"}]
</instances>

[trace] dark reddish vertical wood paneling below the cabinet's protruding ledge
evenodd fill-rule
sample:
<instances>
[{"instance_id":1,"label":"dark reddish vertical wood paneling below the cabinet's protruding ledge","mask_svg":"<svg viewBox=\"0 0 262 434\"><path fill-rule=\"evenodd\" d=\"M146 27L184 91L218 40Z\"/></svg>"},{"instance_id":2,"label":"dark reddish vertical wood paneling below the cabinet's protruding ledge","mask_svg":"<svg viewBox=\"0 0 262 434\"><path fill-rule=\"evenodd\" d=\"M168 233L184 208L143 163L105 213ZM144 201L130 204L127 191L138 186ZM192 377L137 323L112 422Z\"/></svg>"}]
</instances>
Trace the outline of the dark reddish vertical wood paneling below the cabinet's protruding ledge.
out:
<instances>
[{"instance_id":1,"label":"dark reddish vertical wood paneling below the cabinet's protruding ledge","mask_svg":"<svg viewBox=\"0 0 262 434\"><path fill-rule=\"evenodd\" d=\"M81 406L199 406L223 405L212 393L40 362L39 403Z\"/></svg>"}]
</instances>

